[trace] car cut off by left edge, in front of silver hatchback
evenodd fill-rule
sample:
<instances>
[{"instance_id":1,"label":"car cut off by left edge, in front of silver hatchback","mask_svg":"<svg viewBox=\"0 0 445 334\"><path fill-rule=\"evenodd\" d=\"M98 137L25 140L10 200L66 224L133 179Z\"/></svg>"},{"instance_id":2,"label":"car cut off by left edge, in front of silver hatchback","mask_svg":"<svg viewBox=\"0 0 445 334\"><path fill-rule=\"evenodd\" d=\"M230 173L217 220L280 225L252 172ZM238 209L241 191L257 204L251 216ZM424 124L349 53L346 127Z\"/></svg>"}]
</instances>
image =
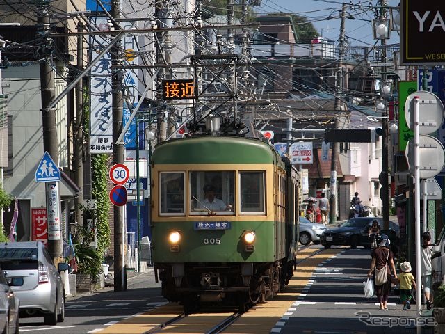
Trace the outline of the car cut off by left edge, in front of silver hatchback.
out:
<instances>
[{"instance_id":1,"label":"car cut off by left edge, in front of silver hatchback","mask_svg":"<svg viewBox=\"0 0 445 334\"><path fill-rule=\"evenodd\" d=\"M21 278L15 278L8 283L0 268L0 331L2 334L19 333L19 299L10 285L22 285Z\"/></svg>"}]
</instances>

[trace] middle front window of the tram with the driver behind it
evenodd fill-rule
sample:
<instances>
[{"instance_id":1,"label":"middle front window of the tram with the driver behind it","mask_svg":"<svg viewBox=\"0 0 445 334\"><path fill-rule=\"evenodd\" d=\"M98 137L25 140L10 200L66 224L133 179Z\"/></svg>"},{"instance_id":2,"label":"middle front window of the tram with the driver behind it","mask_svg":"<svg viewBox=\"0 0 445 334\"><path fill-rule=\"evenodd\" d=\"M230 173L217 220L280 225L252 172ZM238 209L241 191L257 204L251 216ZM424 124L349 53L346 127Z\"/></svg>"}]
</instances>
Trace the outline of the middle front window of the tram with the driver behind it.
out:
<instances>
[{"instance_id":1,"label":"middle front window of the tram with the driver behind it","mask_svg":"<svg viewBox=\"0 0 445 334\"><path fill-rule=\"evenodd\" d=\"M191 214L234 214L234 172L190 173Z\"/></svg>"}]
</instances>

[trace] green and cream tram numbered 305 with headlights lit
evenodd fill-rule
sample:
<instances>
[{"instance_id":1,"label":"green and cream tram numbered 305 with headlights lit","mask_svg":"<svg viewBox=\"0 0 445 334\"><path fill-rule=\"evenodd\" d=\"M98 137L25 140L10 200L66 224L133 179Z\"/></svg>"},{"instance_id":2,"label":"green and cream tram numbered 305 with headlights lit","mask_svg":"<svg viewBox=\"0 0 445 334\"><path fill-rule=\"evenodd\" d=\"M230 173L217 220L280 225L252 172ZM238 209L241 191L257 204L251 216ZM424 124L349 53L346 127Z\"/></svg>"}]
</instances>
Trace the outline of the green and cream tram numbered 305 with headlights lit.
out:
<instances>
[{"instance_id":1,"label":"green and cream tram numbered 305 with headlights lit","mask_svg":"<svg viewBox=\"0 0 445 334\"><path fill-rule=\"evenodd\" d=\"M166 299L187 313L203 303L245 312L289 283L300 176L287 161L258 138L195 136L156 145L152 251Z\"/></svg>"}]
</instances>

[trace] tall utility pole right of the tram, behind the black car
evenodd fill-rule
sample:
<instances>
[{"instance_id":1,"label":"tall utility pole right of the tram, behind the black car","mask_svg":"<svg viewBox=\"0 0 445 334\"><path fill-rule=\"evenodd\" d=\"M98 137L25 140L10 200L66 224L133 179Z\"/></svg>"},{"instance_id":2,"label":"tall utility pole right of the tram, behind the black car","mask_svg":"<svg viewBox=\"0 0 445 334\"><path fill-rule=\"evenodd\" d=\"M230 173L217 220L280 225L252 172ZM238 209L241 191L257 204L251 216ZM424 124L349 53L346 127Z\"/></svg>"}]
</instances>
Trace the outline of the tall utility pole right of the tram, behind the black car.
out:
<instances>
[{"instance_id":1,"label":"tall utility pole right of the tram, behind the black car","mask_svg":"<svg viewBox=\"0 0 445 334\"><path fill-rule=\"evenodd\" d=\"M345 56L345 17L346 17L346 3L343 2L341 6L341 23L340 23L340 37L339 37L339 63L337 65L337 91L335 94L335 123L334 129L339 128L339 113L342 110L342 102L340 95L343 92L343 59ZM331 152L331 180L330 180L330 201L329 201L329 223L334 224L337 220L337 155L339 154L339 142L334 141Z\"/></svg>"}]
</instances>

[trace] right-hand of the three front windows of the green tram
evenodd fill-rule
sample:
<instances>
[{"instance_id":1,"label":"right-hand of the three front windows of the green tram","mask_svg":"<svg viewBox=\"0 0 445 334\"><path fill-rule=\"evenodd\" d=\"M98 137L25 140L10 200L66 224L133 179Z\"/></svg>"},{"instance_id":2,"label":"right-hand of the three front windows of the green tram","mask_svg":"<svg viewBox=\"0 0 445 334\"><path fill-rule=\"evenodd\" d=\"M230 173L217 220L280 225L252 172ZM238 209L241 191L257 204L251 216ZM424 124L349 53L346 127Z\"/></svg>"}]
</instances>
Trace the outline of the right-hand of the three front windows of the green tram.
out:
<instances>
[{"instance_id":1,"label":"right-hand of the three front windows of the green tram","mask_svg":"<svg viewBox=\"0 0 445 334\"><path fill-rule=\"evenodd\" d=\"M264 172L241 172L241 212L264 214Z\"/></svg>"}]
</instances>

